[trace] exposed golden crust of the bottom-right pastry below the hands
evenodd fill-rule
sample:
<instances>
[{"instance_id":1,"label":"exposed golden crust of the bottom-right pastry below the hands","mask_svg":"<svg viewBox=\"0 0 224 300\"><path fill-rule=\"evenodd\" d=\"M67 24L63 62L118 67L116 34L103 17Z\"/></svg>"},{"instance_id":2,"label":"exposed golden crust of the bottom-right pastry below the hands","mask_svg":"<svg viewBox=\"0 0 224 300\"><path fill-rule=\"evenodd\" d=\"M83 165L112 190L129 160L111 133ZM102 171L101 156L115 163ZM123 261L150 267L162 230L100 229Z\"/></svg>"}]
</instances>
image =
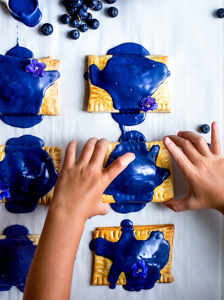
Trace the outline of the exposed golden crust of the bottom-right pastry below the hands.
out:
<instances>
[{"instance_id":1,"label":"exposed golden crust of the bottom-right pastry below the hands","mask_svg":"<svg viewBox=\"0 0 224 300\"><path fill-rule=\"evenodd\" d=\"M169 242L169 260L165 267L161 270L161 278L158 283L170 283L174 279L171 275L172 267L172 249L173 249L173 235L174 235L174 224L166 225L145 225L145 226L133 226L134 233L137 240L146 240L149 238L152 231L163 232L164 238ZM102 237L108 241L116 242L119 240L122 232L122 227L98 227L94 231L94 238ZM94 254L94 269L93 269L93 281L92 285L109 285L108 274L112 265L112 261L103 256ZM116 284L126 284L125 273L122 272L119 276L119 280Z\"/></svg>"}]
</instances>

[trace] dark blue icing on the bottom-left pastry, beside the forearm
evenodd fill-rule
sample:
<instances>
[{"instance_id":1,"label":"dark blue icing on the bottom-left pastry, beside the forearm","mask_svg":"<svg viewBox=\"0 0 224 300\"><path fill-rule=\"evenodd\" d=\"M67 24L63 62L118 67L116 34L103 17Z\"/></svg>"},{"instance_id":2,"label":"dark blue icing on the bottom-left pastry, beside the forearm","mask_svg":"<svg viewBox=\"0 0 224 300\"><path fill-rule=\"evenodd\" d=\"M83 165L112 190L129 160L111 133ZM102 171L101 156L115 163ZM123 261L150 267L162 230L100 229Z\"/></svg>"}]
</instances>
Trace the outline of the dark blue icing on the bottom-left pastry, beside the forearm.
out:
<instances>
[{"instance_id":1,"label":"dark blue icing on the bottom-left pastry, beside the forearm","mask_svg":"<svg viewBox=\"0 0 224 300\"><path fill-rule=\"evenodd\" d=\"M28 271L37 246L28 238L29 230L22 225L7 227L0 240L0 291L16 286L23 292Z\"/></svg>"}]
</instances>

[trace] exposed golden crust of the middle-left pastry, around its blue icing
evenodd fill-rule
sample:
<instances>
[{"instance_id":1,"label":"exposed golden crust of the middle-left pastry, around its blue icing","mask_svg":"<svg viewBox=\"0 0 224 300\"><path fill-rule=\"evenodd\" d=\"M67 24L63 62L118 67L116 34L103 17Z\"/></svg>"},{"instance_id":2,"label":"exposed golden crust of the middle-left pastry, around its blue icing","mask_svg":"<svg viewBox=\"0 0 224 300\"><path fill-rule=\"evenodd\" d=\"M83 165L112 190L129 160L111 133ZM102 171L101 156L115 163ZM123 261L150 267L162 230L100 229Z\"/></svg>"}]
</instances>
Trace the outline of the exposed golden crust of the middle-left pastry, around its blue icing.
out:
<instances>
[{"instance_id":1,"label":"exposed golden crust of the middle-left pastry, around its blue icing","mask_svg":"<svg viewBox=\"0 0 224 300\"><path fill-rule=\"evenodd\" d=\"M50 155L55 165L55 169L57 170L58 173L60 173L62 149L59 147L42 147L42 149L45 150ZM0 161L2 161L5 157L4 150L5 150L5 146L0 146ZM53 192L54 192L54 187L45 196L43 196L38 203L49 205L53 197ZM6 202L5 198L3 198L0 202Z\"/></svg>"}]
</instances>

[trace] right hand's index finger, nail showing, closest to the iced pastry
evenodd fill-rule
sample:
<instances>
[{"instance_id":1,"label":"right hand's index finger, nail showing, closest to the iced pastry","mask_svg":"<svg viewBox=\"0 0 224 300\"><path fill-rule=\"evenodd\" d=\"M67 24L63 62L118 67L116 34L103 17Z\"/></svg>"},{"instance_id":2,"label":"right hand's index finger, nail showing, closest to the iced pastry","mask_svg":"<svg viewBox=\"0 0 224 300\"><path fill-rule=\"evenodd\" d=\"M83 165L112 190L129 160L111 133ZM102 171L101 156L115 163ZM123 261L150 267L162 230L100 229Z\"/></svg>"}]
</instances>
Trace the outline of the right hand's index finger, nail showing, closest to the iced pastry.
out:
<instances>
[{"instance_id":1,"label":"right hand's index finger, nail showing, closest to the iced pastry","mask_svg":"<svg viewBox=\"0 0 224 300\"><path fill-rule=\"evenodd\" d=\"M169 151L172 158L175 160L179 169L184 175L190 176L194 169L193 164L189 161L187 156L173 143L169 137L164 137L163 139L164 145Z\"/></svg>"}]
</instances>

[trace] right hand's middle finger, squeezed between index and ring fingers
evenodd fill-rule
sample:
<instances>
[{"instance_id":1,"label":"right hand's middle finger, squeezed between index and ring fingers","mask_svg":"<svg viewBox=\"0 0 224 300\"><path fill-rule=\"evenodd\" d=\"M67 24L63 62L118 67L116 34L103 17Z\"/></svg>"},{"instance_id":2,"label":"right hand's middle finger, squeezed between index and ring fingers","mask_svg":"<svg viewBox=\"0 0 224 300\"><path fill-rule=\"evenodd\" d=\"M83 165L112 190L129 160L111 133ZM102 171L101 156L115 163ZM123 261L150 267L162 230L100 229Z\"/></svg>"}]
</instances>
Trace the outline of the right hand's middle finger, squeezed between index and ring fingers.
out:
<instances>
[{"instance_id":1,"label":"right hand's middle finger, squeezed between index and ring fingers","mask_svg":"<svg viewBox=\"0 0 224 300\"><path fill-rule=\"evenodd\" d=\"M178 137L177 135L169 135L168 137L177 147L182 149L190 162L195 163L199 159L199 152L189 140Z\"/></svg>"}]
</instances>

